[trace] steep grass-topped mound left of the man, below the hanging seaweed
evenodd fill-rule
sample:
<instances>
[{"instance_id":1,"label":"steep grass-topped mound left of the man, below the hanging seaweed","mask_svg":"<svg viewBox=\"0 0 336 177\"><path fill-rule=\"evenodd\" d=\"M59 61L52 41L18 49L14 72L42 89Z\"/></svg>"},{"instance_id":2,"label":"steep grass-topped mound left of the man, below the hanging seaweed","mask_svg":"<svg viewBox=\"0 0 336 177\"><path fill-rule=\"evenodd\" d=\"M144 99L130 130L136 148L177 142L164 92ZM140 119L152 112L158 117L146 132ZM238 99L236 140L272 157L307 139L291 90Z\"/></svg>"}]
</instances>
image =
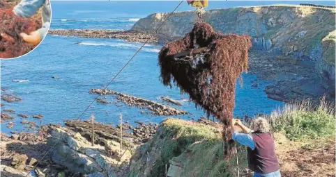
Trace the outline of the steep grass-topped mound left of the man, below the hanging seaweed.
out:
<instances>
[{"instance_id":1,"label":"steep grass-topped mound left of the man, below the hanging seaweed","mask_svg":"<svg viewBox=\"0 0 336 177\"><path fill-rule=\"evenodd\" d=\"M165 176L166 165L168 176L229 176L236 161L223 158L221 129L221 124L165 119L155 137L137 149L129 176Z\"/></svg>"}]
</instances>

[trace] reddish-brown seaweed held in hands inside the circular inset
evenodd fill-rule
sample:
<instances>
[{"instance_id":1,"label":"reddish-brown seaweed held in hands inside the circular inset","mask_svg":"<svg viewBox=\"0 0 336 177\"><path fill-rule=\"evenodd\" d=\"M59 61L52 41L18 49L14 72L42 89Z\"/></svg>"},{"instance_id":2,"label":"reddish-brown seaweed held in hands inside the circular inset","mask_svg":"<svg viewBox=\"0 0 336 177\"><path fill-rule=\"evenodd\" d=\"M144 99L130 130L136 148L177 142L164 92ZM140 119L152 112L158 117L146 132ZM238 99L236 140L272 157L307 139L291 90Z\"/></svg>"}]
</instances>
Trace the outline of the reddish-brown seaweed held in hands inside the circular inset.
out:
<instances>
[{"instance_id":1,"label":"reddish-brown seaweed held in hands inside the circular inset","mask_svg":"<svg viewBox=\"0 0 336 177\"><path fill-rule=\"evenodd\" d=\"M36 31L40 22L33 19L17 17L13 13L13 7L0 0L0 58L15 58L28 53L36 47L22 40L20 33Z\"/></svg>"}]
</instances>

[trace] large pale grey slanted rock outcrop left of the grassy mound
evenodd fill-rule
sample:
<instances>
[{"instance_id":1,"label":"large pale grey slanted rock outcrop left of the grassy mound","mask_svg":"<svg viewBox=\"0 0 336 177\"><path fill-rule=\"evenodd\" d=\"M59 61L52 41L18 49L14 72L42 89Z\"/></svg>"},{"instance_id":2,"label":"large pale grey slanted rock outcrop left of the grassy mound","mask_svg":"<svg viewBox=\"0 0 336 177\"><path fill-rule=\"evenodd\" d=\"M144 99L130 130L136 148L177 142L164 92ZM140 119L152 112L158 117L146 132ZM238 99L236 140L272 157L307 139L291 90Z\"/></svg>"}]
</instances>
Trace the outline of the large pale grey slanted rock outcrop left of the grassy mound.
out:
<instances>
[{"instance_id":1,"label":"large pale grey slanted rock outcrop left of the grassy mound","mask_svg":"<svg viewBox=\"0 0 336 177\"><path fill-rule=\"evenodd\" d=\"M54 146L52 161L70 171L88 176L122 176L121 170L130 159L130 150L123 149L118 142L105 140L105 146L91 144L80 133L70 128L49 126L47 144Z\"/></svg>"}]
</instances>

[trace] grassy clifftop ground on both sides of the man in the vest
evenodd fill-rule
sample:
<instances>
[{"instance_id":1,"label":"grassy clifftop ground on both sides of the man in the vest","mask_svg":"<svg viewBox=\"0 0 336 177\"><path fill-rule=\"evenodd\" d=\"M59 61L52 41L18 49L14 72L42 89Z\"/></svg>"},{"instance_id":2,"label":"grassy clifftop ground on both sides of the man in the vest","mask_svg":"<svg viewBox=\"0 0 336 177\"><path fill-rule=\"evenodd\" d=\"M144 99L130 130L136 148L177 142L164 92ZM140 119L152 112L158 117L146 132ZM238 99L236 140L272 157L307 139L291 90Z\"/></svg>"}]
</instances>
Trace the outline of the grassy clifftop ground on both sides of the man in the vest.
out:
<instances>
[{"instance_id":1,"label":"grassy clifftop ground on both sides of the man in the vest","mask_svg":"<svg viewBox=\"0 0 336 177\"><path fill-rule=\"evenodd\" d=\"M287 106L268 117L273 126L283 176L328 176L334 173L334 109L335 106L326 104L312 109L309 103L303 103ZM155 165L148 176L164 176L165 165L169 162L176 166L168 171L174 176L235 176L237 157L229 162L223 160L220 127L181 119L162 121L158 135L148 142L151 145L146 144L143 149L144 154L151 151L154 144L155 149L160 149L156 156L147 154L155 156ZM238 162L240 176L250 176L246 170L246 149L243 146L238 146ZM132 172L130 176L143 173L141 170Z\"/></svg>"}]
</instances>

